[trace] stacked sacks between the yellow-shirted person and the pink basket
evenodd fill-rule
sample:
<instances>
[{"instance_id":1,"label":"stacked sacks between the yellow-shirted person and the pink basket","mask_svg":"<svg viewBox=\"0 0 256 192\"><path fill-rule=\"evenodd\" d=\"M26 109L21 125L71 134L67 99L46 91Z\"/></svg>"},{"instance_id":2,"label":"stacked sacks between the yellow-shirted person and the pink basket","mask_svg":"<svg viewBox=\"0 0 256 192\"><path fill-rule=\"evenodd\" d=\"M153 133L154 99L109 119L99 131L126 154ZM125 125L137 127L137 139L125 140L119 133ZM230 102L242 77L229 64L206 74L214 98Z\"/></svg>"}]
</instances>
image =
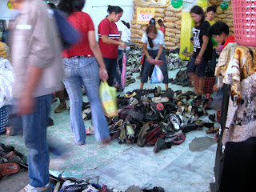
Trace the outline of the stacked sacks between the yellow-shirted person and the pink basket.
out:
<instances>
[{"instance_id":1,"label":"stacked sacks between the yellow-shirted person and the pink basket","mask_svg":"<svg viewBox=\"0 0 256 192\"><path fill-rule=\"evenodd\" d=\"M221 8L221 3L222 0L209 0L208 1L208 6L215 6L217 7L217 11L215 14L214 20L216 22L225 22L226 25L230 27L230 32L234 33L234 25L233 25L233 14L232 14L232 5L231 1L228 2L229 6L226 10L222 10Z\"/></svg>"}]
</instances>

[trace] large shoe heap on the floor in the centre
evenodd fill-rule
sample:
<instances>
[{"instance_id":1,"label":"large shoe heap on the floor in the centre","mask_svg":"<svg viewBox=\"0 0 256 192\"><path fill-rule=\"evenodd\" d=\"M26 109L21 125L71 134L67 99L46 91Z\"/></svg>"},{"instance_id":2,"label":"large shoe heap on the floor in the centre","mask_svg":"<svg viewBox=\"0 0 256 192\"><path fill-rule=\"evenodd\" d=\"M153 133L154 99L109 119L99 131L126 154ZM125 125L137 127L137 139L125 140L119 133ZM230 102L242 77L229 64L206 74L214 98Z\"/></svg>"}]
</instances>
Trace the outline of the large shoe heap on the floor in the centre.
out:
<instances>
[{"instance_id":1,"label":"large shoe heap on the floor in the centre","mask_svg":"<svg viewBox=\"0 0 256 192\"><path fill-rule=\"evenodd\" d=\"M134 90L118 96L118 116L108 118L112 139L120 144L137 143L138 146L154 146L154 152L170 149L184 142L186 133L206 126L214 128L213 121L202 122L198 118L207 114L206 96L192 91L182 93L161 87L151 90ZM212 120L214 120L212 118ZM170 138L165 142L164 138Z\"/></svg>"}]
</instances>

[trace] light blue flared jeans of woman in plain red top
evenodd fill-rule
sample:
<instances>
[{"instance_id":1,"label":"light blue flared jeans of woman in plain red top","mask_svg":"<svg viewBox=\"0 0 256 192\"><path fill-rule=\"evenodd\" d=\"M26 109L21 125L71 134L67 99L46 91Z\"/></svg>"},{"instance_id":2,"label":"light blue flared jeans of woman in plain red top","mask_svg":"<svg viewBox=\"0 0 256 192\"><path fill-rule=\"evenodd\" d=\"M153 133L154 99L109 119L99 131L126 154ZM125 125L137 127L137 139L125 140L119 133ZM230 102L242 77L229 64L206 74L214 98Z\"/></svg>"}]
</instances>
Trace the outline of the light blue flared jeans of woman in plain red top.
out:
<instances>
[{"instance_id":1,"label":"light blue flared jeans of woman in plain red top","mask_svg":"<svg viewBox=\"0 0 256 192\"><path fill-rule=\"evenodd\" d=\"M63 79L70 97L70 122L74 134L74 143L86 142L86 129L82 119L82 84L86 88L86 96L90 102L94 135L97 141L110 138L108 124L99 97L98 62L95 58L64 58Z\"/></svg>"}]
</instances>

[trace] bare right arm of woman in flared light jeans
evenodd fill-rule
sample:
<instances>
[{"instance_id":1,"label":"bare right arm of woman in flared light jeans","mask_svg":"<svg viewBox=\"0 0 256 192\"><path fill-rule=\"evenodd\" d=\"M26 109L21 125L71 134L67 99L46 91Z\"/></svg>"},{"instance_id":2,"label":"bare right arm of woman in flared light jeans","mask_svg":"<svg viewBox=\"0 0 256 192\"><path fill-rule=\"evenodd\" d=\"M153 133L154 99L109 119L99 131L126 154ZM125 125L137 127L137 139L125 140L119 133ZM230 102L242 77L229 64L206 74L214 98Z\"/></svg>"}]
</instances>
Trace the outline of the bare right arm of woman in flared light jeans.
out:
<instances>
[{"instance_id":1,"label":"bare right arm of woman in flared light jeans","mask_svg":"<svg viewBox=\"0 0 256 192\"><path fill-rule=\"evenodd\" d=\"M102 52L99 49L98 42L96 42L95 39L95 31L90 30L88 32L88 40L89 40L89 46L90 50L93 52L94 57L96 58L98 65L99 65L99 77L104 81L106 81L109 77L106 71L106 66L102 58Z\"/></svg>"}]
</instances>

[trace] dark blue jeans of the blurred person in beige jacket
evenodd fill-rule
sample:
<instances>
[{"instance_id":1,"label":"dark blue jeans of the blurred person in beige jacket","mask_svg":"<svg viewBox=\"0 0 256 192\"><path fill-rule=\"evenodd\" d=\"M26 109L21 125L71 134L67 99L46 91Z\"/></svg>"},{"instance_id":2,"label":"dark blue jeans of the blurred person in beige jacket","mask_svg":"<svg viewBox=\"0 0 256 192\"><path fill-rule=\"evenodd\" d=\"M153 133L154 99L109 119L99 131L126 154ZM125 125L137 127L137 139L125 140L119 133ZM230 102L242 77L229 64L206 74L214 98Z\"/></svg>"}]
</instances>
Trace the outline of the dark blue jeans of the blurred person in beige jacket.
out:
<instances>
[{"instance_id":1,"label":"dark blue jeans of the blurred person in beige jacket","mask_svg":"<svg viewBox=\"0 0 256 192\"><path fill-rule=\"evenodd\" d=\"M46 128L50 117L52 95L35 98L33 114L23 115L23 137L28 150L30 186L46 186L49 182L49 150Z\"/></svg>"}]
</instances>

